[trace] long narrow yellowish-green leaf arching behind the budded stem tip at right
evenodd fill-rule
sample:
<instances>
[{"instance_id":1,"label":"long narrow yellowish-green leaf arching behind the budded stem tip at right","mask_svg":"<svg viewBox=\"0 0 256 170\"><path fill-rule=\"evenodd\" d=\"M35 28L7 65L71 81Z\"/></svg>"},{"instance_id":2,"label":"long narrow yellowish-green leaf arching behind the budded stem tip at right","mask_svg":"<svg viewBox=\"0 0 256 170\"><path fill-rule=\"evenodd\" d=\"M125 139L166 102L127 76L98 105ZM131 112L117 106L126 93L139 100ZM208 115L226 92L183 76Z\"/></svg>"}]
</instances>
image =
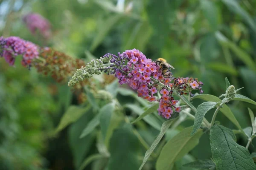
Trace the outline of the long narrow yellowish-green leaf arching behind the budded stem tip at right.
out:
<instances>
[{"instance_id":1,"label":"long narrow yellowish-green leaf arching behind the budded stem tip at right","mask_svg":"<svg viewBox=\"0 0 256 170\"><path fill-rule=\"evenodd\" d=\"M203 99L206 101L212 101L212 102L221 102L221 99L219 99L216 96L210 95L210 94L196 94L194 97L192 97L191 99ZM232 111L230 110L230 108L225 104L222 106L222 108L220 109L220 111L228 118L230 119L230 121L236 125L236 127L239 128L239 130L241 130L241 133L246 136L246 134L244 133L242 127L239 125L239 122L237 121L236 117L234 116L234 114L232 113Z\"/></svg>"}]
</instances>

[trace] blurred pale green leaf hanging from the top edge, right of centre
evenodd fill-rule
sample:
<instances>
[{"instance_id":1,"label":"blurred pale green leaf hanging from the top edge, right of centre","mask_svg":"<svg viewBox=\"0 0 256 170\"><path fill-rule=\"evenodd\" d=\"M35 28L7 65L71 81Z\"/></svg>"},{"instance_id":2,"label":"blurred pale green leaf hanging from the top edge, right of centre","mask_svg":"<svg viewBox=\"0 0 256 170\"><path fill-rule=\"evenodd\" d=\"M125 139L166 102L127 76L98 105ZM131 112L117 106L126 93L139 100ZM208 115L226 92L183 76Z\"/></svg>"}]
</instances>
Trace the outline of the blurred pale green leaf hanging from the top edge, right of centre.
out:
<instances>
[{"instance_id":1,"label":"blurred pale green leaf hanging from the top edge, right of centre","mask_svg":"<svg viewBox=\"0 0 256 170\"><path fill-rule=\"evenodd\" d=\"M201 0L201 8L213 31L218 28L218 8L213 1Z\"/></svg>"}]
</instances>

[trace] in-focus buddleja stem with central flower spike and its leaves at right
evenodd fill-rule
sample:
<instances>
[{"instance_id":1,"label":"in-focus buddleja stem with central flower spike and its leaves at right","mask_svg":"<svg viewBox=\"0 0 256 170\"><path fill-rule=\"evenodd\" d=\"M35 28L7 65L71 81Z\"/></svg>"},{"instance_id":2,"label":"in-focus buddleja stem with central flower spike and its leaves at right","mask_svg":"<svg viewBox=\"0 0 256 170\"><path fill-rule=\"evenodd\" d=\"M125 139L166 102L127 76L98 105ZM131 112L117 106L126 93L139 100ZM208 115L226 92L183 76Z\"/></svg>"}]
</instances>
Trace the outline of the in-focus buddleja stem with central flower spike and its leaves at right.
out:
<instances>
[{"instance_id":1,"label":"in-focus buddleja stem with central flower spike and its leaves at right","mask_svg":"<svg viewBox=\"0 0 256 170\"><path fill-rule=\"evenodd\" d=\"M73 86L79 81L91 78L93 74L101 74L102 71L107 74L115 74L121 85L128 84L137 91L139 97L154 103L151 108L132 123L143 119L148 114L154 112L154 109L157 109L159 116L168 119L163 122L159 135L146 151L143 163L139 168L140 170L168 128L174 122L180 123L183 121L183 115L195 119L194 125L183 129L163 146L157 158L157 170L172 169L175 161L181 159L198 144L203 133L209 133L210 135L212 159L198 160L184 166L205 170L256 169L256 164L247 150L250 142L256 136L256 119L249 109L252 128L248 127L243 130L230 111L230 108L226 105L227 102L232 100L249 102L254 105L256 105L256 102L236 94L241 88L236 90L233 85L230 85L227 78L226 93L222 94L219 98L209 94L194 95L192 94L194 90L203 93L202 82L194 78L173 77L171 73L168 76L163 75L162 70L155 62L147 59L140 51L133 49L127 50L122 54L119 53L117 56L106 54L100 59L92 60L85 67L76 71L68 85ZM221 100L220 98L222 97L223 99ZM196 98L207 100L207 102L195 108L191 100ZM211 109L215 109L215 112L212 116L212 121L209 123L204 116ZM195 116L190 111L195 112ZM215 117L219 111L239 128L239 133L247 136L248 144L246 147L236 143L236 136L231 129L220 125L219 122L215 122ZM172 128L175 128L175 126Z\"/></svg>"}]
</instances>

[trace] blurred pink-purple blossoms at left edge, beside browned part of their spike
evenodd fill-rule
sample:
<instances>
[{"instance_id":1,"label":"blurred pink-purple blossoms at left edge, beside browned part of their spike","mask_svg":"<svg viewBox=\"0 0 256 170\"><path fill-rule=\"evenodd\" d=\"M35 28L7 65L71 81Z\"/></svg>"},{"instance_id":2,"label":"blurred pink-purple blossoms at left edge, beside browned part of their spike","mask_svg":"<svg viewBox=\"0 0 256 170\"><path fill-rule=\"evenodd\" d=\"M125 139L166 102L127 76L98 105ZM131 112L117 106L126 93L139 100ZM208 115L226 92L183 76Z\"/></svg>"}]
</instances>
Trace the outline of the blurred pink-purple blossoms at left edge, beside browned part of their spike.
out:
<instances>
[{"instance_id":1,"label":"blurred pink-purple blossoms at left edge, beside browned part of their spike","mask_svg":"<svg viewBox=\"0 0 256 170\"><path fill-rule=\"evenodd\" d=\"M5 58L9 65L14 65L15 57L22 55L22 65L30 66L32 59L38 58L38 46L19 37L0 37L0 57Z\"/></svg>"}]
</instances>

